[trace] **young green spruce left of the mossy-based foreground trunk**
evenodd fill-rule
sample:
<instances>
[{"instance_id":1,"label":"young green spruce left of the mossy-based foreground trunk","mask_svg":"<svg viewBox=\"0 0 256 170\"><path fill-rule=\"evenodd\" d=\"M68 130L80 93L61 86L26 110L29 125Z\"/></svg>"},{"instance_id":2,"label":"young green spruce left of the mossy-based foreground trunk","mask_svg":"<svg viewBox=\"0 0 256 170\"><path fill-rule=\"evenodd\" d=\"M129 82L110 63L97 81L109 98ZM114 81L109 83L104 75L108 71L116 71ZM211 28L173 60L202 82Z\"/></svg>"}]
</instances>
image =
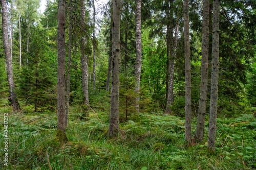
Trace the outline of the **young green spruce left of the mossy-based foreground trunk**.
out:
<instances>
[{"instance_id":1,"label":"young green spruce left of the mossy-based foreground trunk","mask_svg":"<svg viewBox=\"0 0 256 170\"><path fill-rule=\"evenodd\" d=\"M46 30L34 28L28 53L29 63L22 67L18 79L20 98L33 103L36 107L56 102L56 54L49 51L46 42Z\"/></svg>"}]
</instances>

